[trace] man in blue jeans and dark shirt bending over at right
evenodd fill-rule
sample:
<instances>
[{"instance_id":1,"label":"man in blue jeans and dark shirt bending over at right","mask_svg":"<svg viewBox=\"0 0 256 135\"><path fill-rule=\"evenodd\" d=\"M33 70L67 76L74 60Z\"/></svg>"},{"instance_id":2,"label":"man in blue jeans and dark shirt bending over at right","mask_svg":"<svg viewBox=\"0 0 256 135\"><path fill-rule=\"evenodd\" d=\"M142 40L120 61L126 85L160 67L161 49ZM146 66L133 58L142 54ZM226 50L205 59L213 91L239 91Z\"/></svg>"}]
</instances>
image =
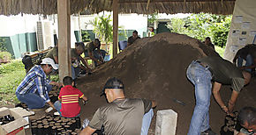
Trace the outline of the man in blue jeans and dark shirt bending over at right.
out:
<instances>
[{"instance_id":1,"label":"man in blue jeans and dark shirt bending over at right","mask_svg":"<svg viewBox=\"0 0 256 135\"><path fill-rule=\"evenodd\" d=\"M209 106L214 82L213 94L216 102L228 115L233 116L234 105L240 90L249 83L251 75L241 71L228 60L221 57L205 57L193 60L186 71L187 78L195 86L196 106L193 111L188 135L215 135L209 125ZM222 84L230 85L232 94L227 107L222 101Z\"/></svg>"}]
</instances>

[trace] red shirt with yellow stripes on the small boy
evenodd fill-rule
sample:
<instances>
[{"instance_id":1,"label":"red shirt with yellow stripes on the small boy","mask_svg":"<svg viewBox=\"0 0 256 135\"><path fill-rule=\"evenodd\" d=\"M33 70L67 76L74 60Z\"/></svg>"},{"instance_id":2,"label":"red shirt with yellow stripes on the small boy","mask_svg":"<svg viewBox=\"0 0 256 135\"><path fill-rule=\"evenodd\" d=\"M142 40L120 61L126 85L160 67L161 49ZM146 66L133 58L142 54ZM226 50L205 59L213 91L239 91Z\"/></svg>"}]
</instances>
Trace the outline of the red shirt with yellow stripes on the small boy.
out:
<instances>
[{"instance_id":1,"label":"red shirt with yellow stripes on the small boy","mask_svg":"<svg viewBox=\"0 0 256 135\"><path fill-rule=\"evenodd\" d=\"M76 117L80 113L79 98L84 94L71 85L66 85L59 92L58 98L61 100L61 115L63 117Z\"/></svg>"}]
</instances>

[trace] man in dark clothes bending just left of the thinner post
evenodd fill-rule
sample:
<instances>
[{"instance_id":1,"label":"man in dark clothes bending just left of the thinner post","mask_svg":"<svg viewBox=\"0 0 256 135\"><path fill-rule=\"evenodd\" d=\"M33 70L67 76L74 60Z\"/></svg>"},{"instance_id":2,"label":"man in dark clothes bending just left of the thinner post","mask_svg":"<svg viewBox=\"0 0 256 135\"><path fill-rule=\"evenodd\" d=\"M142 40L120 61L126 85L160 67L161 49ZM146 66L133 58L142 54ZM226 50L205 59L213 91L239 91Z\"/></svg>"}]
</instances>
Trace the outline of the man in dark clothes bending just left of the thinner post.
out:
<instances>
[{"instance_id":1,"label":"man in dark clothes bending just left of the thinner post","mask_svg":"<svg viewBox=\"0 0 256 135\"><path fill-rule=\"evenodd\" d=\"M101 50L101 41L94 39L94 41L87 44L85 49L85 57L90 57L94 60L95 66L104 62L106 51Z\"/></svg>"}]
</instances>

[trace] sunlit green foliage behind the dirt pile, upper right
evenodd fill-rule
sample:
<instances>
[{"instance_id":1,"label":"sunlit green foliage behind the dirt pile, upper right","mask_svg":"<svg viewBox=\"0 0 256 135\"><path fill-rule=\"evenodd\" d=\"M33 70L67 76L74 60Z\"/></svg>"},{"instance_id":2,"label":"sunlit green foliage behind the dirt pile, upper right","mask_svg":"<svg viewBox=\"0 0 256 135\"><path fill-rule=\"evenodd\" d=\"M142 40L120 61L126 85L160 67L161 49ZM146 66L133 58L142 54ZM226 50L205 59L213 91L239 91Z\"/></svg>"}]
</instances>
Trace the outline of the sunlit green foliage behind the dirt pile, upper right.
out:
<instances>
[{"instance_id":1,"label":"sunlit green foliage behind the dirt pile, upper right","mask_svg":"<svg viewBox=\"0 0 256 135\"><path fill-rule=\"evenodd\" d=\"M225 46L232 16L207 13L192 14L188 18L171 18L168 25L171 32L186 34L192 38L204 40L210 37L215 46Z\"/></svg>"}]
</instances>

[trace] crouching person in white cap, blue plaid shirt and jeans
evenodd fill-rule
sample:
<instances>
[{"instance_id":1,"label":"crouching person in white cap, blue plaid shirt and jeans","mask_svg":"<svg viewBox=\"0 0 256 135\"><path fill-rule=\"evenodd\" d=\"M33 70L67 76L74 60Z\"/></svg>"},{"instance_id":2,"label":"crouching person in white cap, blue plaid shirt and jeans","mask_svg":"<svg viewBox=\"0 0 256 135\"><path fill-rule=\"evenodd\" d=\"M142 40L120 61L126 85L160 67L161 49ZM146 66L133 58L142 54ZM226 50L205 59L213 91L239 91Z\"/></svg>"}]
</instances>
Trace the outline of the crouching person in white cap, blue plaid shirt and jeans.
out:
<instances>
[{"instance_id":1,"label":"crouching person in white cap, blue plaid shirt and jeans","mask_svg":"<svg viewBox=\"0 0 256 135\"><path fill-rule=\"evenodd\" d=\"M57 69L58 65L54 60L45 58L41 60L39 65L35 65L29 70L19 87L16 89L16 96L21 103L26 103L28 109L40 109L45 103L54 108L53 103L49 100L49 90L47 85L60 86L58 82L49 82L46 75L52 71L52 68Z\"/></svg>"}]
</instances>

